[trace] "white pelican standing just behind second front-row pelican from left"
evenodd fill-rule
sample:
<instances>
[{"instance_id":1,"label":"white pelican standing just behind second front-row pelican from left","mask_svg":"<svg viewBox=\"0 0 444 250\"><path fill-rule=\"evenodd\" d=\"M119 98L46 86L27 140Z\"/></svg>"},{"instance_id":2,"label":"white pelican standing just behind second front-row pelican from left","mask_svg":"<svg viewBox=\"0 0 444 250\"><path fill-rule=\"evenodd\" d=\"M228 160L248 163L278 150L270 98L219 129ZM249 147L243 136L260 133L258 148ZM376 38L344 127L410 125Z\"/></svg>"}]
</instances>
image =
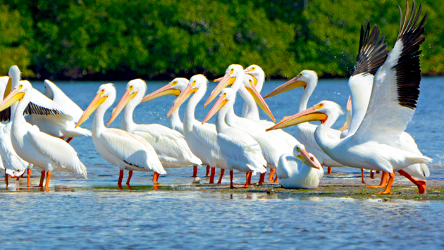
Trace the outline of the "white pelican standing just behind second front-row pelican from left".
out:
<instances>
[{"instance_id":1,"label":"white pelican standing just behind second front-row pelican from left","mask_svg":"<svg viewBox=\"0 0 444 250\"><path fill-rule=\"evenodd\" d=\"M201 165L202 161L191 153L185 137L180 132L159 124L134 123L132 113L135 107L140 104L146 91L147 84L143 80L130 80L106 127L113 122L125 107L121 129L146 139L153 146L164 168Z\"/></svg>"}]
</instances>

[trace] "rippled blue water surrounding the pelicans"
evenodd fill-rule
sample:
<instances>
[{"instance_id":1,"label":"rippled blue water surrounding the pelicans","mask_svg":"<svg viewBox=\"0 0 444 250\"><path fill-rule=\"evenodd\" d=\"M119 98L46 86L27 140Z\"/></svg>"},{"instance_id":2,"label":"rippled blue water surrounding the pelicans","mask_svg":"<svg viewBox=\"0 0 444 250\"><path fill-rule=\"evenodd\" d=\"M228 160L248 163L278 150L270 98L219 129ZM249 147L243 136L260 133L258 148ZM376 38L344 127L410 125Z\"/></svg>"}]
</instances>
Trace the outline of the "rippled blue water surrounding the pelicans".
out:
<instances>
[{"instance_id":1,"label":"rippled blue water surrounding the pelicans","mask_svg":"<svg viewBox=\"0 0 444 250\"><path fill-rule=\"evenodd\" d=\"M431 178L443 179L444 77L425 77L419 104L407 128L424 155L433 158ZM104 83L104 82L101 82ZM100 82L56 82L81 108L92 101ZM283 81L268 81L268 94ZM114 82L118 99L126 82ZM166 82L149 82L148 92ZM42 82L33 82L43 92ZM215 87L210 84L209 91ZM302 89L266 99L280 120L295 113ZM350 90L347 80L320 80L309 105L323 99L345 107ZM166 113L173 96L142 104L135 110L136 123L167 125ZM205 98L206 99L206 98ZM115 105L117 104L116 103ZM181 108L183 114L184 107ZM203 106L203 104L202 104ZM209 108L197 108L202 120ZM105 118L111 115L110 108ZM240 113L242 102L235 111ZM266 115L261 113L262 118ZM210 122L214 122L210 120ZM338 120L335 128L345 122ZM110 127L120 127L121 115ZM92 118L82 127L91 128ZM293 129L286 129L292 134ZM25 180L11 181L9 192L0 193L1 249L438 249L444 231L440 212L443 201L390 201L379 199L300 198L288 194L230 194L184 191L192 182L190 168L167 169L162 187L178 191L115 189L118 168L105 161L92 139L76 137L70 144L88 169L88 180L71 173L53 173L50 192L23 189ZM352 168L341 171L356 172ZM202 177L204 170L199 170ZM33 172L33 185L39 172ZM245 175L236 173L235 182ZM152 173L132 177L132 187L152 185ZM257 178L257 177L256 177ZM202 177L203 182L207 180ZM228 182L228 177L224 182ZM4 189L4 186L0 187ZM137 189L137 188L136 188Z\"/></svg>"}]
</instances>

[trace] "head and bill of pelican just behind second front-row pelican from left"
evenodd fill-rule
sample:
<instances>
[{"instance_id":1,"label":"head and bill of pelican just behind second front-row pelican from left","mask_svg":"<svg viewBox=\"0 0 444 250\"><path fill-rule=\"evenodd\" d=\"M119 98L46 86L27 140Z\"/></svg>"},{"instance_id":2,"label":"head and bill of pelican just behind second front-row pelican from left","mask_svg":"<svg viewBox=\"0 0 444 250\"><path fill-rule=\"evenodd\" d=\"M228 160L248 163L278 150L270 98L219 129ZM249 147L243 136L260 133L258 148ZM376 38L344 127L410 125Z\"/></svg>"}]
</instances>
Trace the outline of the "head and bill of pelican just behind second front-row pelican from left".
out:
<instances>
[{"instance_id":1,"label":"head and bill of pelican just behind second front-row pelican from left","mask_svg":"<svg viewBox=\"0 0 444 250\"><path fill-rule=\"evenodd\" d=\"M142 96L147 92L147 83L142 79L130 80L126 85L125 93L121 98L121 101L118 102L116 108L113 110L113 114L111 118L109 118L109 122L106 123L106 127L108 127L114 119L116 119L117 115L121 113L123 108L131 102L133 106L137 106L142 101Z\"/></svg>"}]
</instances>

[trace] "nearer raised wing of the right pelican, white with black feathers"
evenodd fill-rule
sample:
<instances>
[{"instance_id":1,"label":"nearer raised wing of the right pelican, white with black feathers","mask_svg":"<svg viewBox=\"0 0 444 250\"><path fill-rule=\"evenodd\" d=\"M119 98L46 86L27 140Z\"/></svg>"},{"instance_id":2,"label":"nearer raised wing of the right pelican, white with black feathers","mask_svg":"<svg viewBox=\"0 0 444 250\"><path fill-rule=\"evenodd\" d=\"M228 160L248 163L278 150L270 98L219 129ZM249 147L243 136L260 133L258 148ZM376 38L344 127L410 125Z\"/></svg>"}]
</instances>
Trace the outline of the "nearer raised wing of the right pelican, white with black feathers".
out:
<instances>
[{"instance_id":1,"label":"nearer raised wing of the right pelican, white with black feathers","mask_svg":"<svg viewBox=\"0 0 444 250\"><path fill-rule=\"evenodd\" d=\"M407 4L405 20L395 46L374 77L369 107L354 139L371 138L373 141L395 146L407 123L412 120L421 82L419 45L425 39L424 23L427 17L427 14L424 15L417 25L421 5L417 15L414 15L414 2L412 8L412 13L407 17Z\"/></svg>"}]
</instances>

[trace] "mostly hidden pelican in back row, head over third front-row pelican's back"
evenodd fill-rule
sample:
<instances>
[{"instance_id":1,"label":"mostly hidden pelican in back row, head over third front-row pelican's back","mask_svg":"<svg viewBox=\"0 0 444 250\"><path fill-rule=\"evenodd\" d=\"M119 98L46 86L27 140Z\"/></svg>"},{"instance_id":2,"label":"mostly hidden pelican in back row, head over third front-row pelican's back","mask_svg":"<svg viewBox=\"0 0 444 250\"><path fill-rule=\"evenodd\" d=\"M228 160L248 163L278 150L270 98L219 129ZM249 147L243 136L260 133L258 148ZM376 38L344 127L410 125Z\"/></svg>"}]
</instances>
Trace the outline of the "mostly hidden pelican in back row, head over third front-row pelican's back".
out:
<instances>
[{"instance_id":1,"label":"mostly hidden pelican in back row, head over third front-row pelican's back","mask_svg":"<svg viewBox=\"0 0 444 250\"><path fill-rule=\"evenodd\" d=\"M187 78L183 77L176 77L171 82L168 83L168 85L165 85L164 87L161 87L160 89L157 89L155 92L152 92L151 94L147 94L147 96L144 96L142 101L140 103L144 103L145 101L151 101L152 99L156 99L160 96L165 96L167 94L172 94L173 96L177 97L182 93L185 88L188 85L189 80ZM170 118L168 118L168 127L172 130L175 130L177 132L180 132L180 134L183 135L183 123L180 120L179 117L179 108L177 108L173 113L171 113Z\"/></svg>"}]
</instances>

